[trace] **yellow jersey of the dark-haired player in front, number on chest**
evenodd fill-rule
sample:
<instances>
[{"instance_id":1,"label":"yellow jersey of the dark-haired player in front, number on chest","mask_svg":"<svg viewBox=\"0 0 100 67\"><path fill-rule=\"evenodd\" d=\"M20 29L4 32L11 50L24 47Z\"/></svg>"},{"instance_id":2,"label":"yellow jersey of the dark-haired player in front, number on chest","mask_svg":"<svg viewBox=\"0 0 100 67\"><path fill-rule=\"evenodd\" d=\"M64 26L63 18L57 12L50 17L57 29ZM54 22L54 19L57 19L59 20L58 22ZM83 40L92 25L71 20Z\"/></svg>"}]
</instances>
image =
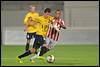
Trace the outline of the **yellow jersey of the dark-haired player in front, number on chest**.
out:
<instances>
[{"instance_id":1,"label":"yellow jersey of the dark-haired player in front, number on chest","mask_svg":"<svg viewBox=\"0 0 100 67\"><path fill-rule=\"evenodd\" d=\"M49 28L49 23L52 23L51 21L53 20L53 17L49 16L48 18L44 18L44 16L40 16L37 19L38 23L38 29L36 34L37 35L42 35L43 37L46 37L46 33Z\"/></svg>"}]
</instances>

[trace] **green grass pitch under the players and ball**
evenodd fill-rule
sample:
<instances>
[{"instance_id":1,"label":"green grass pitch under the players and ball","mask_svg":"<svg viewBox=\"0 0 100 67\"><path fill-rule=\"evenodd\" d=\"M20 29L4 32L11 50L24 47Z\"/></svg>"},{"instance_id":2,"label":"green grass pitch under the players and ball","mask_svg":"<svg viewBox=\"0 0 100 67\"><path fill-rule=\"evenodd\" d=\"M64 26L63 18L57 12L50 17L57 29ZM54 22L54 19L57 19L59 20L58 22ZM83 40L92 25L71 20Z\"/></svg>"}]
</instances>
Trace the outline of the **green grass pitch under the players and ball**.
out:
<instances>
[{"instance_id":1,"label":"green grass pitch under the players and ball","mask_svg":"<svg viewBox=\"0 0 100 67\"><path fill-rule=\"evenodd\" d=\"M16 61L16 56L22 54L25 46L1 45L1 66L98 66L99 46L98 45L56 45L53 50L44 56L54 55L55 62L47 63L35 59L32 64L29 58L34 54L23 58L23 63Z\"/></svg>"}]
</instances>

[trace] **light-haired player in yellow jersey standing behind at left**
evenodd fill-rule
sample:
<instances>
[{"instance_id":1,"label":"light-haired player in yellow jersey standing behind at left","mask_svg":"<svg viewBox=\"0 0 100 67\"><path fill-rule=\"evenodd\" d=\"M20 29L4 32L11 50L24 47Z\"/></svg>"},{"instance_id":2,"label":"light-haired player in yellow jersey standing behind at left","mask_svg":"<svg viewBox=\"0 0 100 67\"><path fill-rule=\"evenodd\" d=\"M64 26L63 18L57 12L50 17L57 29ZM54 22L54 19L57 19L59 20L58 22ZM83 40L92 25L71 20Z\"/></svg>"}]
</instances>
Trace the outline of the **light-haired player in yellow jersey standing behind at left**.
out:
<instances>
[{"instance_id":1,"label":"light-haired player in yellow jersey standing behind at left","mask_svg":"<svg viewBox=\"0 0 100 67\"><path fill-rule=\"evenodd\" d=\"M36 10L36 6L30 5L29 12L25 15L24 18L24 31L27 32L26 35L27 42L25 47L26 51L29 50L30 41L35 36L35 33L37 31L35 18L37 18L39 14L35 10Z\"/></svg>"}]
</instances>

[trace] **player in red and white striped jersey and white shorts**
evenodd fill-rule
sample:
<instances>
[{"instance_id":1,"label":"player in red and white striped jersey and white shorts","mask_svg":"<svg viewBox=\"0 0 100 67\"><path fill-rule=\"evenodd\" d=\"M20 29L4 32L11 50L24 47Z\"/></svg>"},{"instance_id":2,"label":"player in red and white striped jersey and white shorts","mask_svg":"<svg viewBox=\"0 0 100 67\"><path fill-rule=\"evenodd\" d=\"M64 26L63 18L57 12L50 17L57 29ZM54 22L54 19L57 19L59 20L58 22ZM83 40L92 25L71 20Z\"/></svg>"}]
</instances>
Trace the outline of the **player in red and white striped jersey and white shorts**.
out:
<instances>
[{"instance_id":1,"label":"player in red and white striped jersey and white shorts","mask_svg":"<svg viewBox=\"0 0 100 67\"><path fill-rule=\"evenodd\" d=\"M61 28L66 29L65 23L60 18L60 15L61 11L57 9L55 11L55 16L53 18L53 24L49 25L49 29L47 31L46 44L44 44L41 47L40 52L38 52L36 56L33 56L31 60L38 57L42 57L46 52L48 52L51 48L53 48L55 46L54 42L57 42L59 39L59 33Z\"/></svg>"}]
</instances>

